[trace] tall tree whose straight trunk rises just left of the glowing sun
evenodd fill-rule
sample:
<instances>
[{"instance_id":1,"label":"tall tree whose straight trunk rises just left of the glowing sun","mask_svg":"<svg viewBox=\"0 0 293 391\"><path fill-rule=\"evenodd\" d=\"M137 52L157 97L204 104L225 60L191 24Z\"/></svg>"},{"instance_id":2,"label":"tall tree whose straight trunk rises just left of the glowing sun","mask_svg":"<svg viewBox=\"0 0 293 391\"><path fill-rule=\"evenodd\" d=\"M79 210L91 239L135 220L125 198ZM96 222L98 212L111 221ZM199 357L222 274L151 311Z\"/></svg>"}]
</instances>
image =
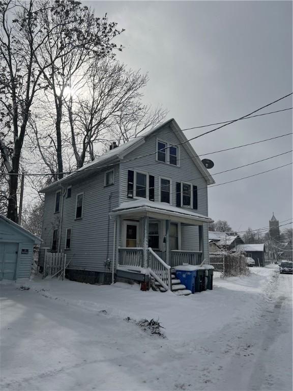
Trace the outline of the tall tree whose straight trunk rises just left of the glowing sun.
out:
<instances>
[{"instance_id":1,"label":"tall tree whose straight trunk rises just left of the glowing sun","mask_svg":"<svg viewBox=\"0 0 293 391\"><path fill-rule=\"evenodd\" d=\"M53 3L50 1L48 4ZM78 2L61 0L58 4L60 7L57 10L46 8L41 13L42 35L49 36L50 39L45 41L44 50L35 60L49 86L47 98L53 101L55 107L55 147L58 179L61 179L64 99L74 90L72 83L78 83L87 72L86 67L90 65L91 59L113 57L116 44L111 41L121 32L116 30L116 23L108 22L107 15L101 19L96 18L91 9L81 7ZM54 35L51 34L52 31ZM53 59L55 60L52 61ZM44 68L47 63L50 66ZM79 71L82 73L81 77L78 75Z\"/></svg>"}]
</instances>

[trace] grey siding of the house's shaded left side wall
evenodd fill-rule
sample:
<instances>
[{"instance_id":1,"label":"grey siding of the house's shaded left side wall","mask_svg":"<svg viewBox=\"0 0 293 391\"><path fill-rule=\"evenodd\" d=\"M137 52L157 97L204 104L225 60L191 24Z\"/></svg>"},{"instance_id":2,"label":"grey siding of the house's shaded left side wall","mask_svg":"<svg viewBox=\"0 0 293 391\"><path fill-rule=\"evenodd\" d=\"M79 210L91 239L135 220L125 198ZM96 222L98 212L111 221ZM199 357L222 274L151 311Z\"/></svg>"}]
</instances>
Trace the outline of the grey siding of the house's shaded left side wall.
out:
<instances>
[{"instance_id":1,"label":"grey siding of the house's shaded left side wall","mask_svg":"<svg viewBox=\"0 0 293 391\"><path fill-rule=\"evenodd\" d=\"M78 182L72 182L71 198L62 197L60 213L54 213L55 191L45 195L42 247L51 248L53 230L61 231L61 250L67 254L68 269L109 272L104 262L112 261L113 220L108 220L109 196L111 209L118 206L119 165L114 166L114 184L104 187L105 172L97 173ZM83 192L81 219L75 219L77 194ZM63 203L63 218L61 214ZM109 224L109 230L108 230ZM66 229L71 228L71 248L65 249ZM108 235L109 232L109 235ZM108 249L108 251L107 251ZM108 253L108 254L107 254ZM43 255L43 252L41 252ZM43 264L43 256L40 258Z\"/></svg>"}]
</instances>

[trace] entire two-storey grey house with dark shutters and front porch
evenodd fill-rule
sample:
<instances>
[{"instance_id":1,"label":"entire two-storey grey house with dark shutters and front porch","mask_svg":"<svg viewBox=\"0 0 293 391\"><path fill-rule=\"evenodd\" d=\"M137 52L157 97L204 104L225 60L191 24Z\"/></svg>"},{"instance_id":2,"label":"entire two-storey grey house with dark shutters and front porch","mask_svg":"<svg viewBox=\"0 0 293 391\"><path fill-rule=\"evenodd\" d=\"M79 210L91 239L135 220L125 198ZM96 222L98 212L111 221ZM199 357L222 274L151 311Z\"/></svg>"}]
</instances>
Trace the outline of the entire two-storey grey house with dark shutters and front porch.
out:
<instances>
[{"instance_id":1,"label":"entire two-storey grey house with dark shutters and front porch","mask_svg":"<svg viewBox=\"0 0 293 391\"><path fill-rule=\"evenodd\" d=\"M163 280L166 264L208 263L213 183L171 119L43 188L43 247L67 254L72 280L144 278L143 267Z\"/></svg>"}]
</instances>

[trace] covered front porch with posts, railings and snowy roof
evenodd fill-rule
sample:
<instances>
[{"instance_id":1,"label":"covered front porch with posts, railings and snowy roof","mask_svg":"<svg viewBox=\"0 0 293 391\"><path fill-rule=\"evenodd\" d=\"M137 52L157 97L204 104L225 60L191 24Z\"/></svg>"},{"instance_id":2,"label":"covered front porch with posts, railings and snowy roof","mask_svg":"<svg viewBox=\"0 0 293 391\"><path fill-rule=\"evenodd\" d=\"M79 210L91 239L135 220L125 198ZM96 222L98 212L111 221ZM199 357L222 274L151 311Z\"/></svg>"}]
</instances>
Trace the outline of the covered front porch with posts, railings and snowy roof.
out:
<instances>
[{"instance_id":1,"label":"covered front porch with posts, railings and snowy roof","mask_svg":"<svg viewBox=\"0 0 293 391\"><path fill-rule=\"evenodd\" d=\"M130 201L115 208L113 274L117 270L149 273L165 289L171 289L171 268L206 260L203 224L211 220L192 209L147 200ZM193 249L184 248L185 229L197 228ZM189 233L190 235L190 233ZM208 240L208 238L206 238ZM123 273L122 273L123 274ZM139 280L139 278L138 278Z\"/></svg>"}]
</instances>

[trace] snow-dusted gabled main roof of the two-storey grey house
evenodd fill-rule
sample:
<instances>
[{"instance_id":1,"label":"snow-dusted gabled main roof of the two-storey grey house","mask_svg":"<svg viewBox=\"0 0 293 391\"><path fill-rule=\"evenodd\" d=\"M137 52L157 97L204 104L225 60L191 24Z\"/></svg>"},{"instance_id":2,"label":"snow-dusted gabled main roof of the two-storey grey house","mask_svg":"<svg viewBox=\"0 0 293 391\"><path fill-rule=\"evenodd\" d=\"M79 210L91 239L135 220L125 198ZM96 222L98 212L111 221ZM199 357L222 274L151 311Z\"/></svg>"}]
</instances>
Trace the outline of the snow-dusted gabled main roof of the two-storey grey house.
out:
<instances>
[{"instance_id":1,"label":"snow-dusted gabled main roof of the two-storey grey house","mask_svg":"<svg viewBox=\"0 0 293 391\"><path fill-rule=\"evenodd\" d=\"M85 175L89 175L93 172L93 170L97 169L103 169L106 166L110 168L111 164L116 164L124 159L124 157L138 148L140 145L144 144L147 137L150 136L152 133L160 130L164 126L169 125L171 130L175 132L177 137L179 138L180 143L184 143L182 146L186 149L187 153L189 154L190 158L194 162L194 164L197 166L197 169L202 174L204 179L207 181L208 185L211 185L215 183L213 177L207 170L206 166L204 166L194 151L191 144L187 141L187 138L181 128L179 127L178 123L171 118L170 120L162 123L161 125L158 125L154 127L153 129L150 129L149 131L145 131L144 133L141 133L138 137L132 138L130 141L128 141L125 144L120 145L117 148L114 148L110 151L107 151L103 155L97 157L95 160L91 161L90 163L85 164L81 169L74 171L73 173L67 175L63 179L60 179L58 181L55 181L51 183L50 185L42 188L39 192L45 193L48 190L52 190L55 187L58 187L58 185L63 185L66 183L70 183L72 180L76 179L76 177L79 175L81 177ZM155 154L156 151L154 151Z\"/></svg>"}]
</instances>

